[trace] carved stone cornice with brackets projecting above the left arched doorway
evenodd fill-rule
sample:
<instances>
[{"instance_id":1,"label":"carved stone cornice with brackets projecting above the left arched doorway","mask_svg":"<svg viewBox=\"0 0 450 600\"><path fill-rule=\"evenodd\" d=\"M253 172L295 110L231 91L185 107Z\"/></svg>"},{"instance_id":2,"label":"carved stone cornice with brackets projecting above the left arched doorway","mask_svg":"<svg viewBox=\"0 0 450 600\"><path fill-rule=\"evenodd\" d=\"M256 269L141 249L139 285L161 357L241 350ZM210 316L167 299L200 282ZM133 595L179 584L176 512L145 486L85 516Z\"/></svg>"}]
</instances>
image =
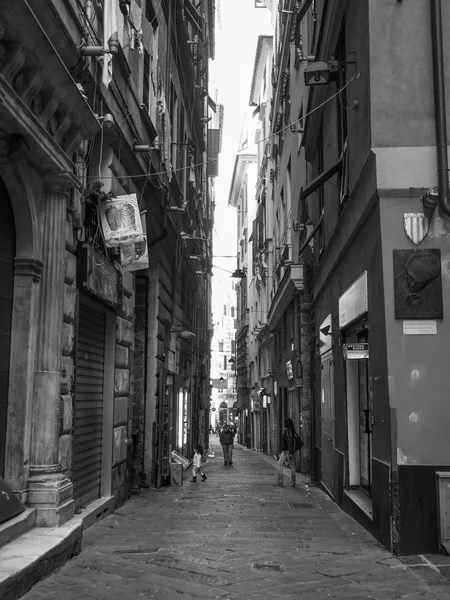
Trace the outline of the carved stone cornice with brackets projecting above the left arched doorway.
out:
<instances>
[{"instance_id":1,"label":"carved stone cornice with brackets projecting above the left arched doorway","mask_svg":"<svg viewBox=\"0 0 450 600\"><path fill-rule=\"evenodd\" d=\"M26 2L6 3L1 11L0 101L0 125L13 132L18 123L25 143L34 148L33 161L44 171L69 168L80 141L100 130Z\"/></svg>"}]
</instances>

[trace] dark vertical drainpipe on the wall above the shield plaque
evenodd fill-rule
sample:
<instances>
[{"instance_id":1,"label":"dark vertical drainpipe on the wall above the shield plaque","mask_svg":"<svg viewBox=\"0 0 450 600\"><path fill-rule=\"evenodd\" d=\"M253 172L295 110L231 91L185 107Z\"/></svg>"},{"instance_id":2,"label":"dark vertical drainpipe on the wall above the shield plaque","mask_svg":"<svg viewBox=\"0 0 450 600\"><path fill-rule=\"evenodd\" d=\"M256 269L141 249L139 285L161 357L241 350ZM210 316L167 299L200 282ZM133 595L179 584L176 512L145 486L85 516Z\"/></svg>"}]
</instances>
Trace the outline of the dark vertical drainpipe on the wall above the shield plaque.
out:
<instances>
[{"instance_id":1,"label":"dark vertical drainpipe on the wall above the shield plaque","mask_svg":"<svg viewBox=\"0 0 450 600\"><path fill-rule=\"evenodd\" d=\"M439 203L450 216L441 0L430 0L430 9Z\"/></svg>"}]
</instances>

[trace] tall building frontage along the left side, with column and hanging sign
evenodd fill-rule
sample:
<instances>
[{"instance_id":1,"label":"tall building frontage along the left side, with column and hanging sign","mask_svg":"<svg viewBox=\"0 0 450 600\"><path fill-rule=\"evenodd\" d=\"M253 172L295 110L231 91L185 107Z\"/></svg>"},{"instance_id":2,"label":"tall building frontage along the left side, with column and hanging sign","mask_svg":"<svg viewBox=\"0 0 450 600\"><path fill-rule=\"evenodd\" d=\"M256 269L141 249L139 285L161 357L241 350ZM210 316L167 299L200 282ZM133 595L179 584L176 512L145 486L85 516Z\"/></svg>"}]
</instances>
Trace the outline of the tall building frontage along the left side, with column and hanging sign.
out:
<instances>
[{"instance_id":1,"label":"tall building frontage along the left side, with column and hanging sign","mask_svg":"<svg viewBox=\"0 0 450 600\"><path fill-rule=\"evenodd\" d=\"M75 548L205 439L214 19L206 2L0 3L0 477L20 501L2 540L77 512Z\"/></svg>"}]
</instances>

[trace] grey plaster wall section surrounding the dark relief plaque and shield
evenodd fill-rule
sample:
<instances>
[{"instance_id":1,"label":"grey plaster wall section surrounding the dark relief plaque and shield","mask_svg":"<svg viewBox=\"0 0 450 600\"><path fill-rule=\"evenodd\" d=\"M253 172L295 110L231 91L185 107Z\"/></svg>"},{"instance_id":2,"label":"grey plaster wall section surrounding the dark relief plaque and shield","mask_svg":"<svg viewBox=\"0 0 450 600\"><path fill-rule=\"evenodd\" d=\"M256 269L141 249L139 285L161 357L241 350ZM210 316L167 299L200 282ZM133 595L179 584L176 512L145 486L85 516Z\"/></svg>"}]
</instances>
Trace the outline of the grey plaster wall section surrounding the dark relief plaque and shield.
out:
<instances>
[{"instance_id":1,"label":"grey plaster wall section surrounding the dark relief plaque and shield","mask_svg":"<svg viewBox=\"0 0 450 600\"><path fill-rule=\"evenodd\" d=\"M441 249L444 318L437 321L437 334L404 335L403 321L394 316L392 252L415 247L403 231L403 214L421 210L419 198L381 199L389 394L396 411L398 463L445 465L450 462L450 237L439 218L435 218L432 231L419 246Z\"/></svg>"}]
</instances>

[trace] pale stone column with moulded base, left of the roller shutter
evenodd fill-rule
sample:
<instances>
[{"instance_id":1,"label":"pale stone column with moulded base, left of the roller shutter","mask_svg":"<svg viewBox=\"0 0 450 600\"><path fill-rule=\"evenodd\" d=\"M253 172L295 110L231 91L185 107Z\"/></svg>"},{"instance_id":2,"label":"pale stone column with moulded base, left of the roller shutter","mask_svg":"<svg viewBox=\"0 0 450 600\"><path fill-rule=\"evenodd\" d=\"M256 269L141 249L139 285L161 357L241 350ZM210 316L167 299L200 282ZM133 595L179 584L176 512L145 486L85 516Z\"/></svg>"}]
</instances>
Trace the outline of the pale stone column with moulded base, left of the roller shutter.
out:
<instances>
[{"instance_id":1,"label":"pale stone column with moulded base, left of the roller shutter","mask_svg":"<svg viewBox=\"0 0 450 600\"><path fill-rule=\"evenodd\" d=\"M47 174L43 186L44 263L36 344L28 503L39 526L61 525L74 515L72 482L58 464L64 303L65 223L69 176Z\"/></svg>"}]
</instances>

